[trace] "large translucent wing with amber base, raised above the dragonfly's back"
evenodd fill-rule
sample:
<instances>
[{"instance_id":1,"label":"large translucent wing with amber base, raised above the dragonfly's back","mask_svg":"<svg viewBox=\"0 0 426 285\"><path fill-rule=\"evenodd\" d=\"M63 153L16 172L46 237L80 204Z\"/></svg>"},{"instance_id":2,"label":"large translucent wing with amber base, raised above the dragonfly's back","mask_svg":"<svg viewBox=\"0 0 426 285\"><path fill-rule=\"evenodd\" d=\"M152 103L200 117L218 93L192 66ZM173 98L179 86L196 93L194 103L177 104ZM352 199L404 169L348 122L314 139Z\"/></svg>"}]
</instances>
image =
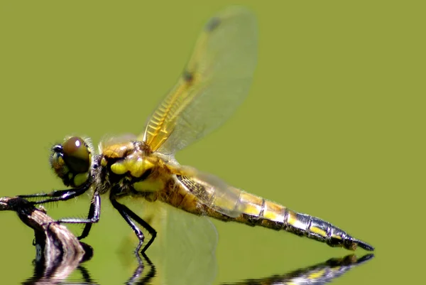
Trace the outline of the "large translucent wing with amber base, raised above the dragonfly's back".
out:
<instances>
[{"instance_id":1,"label":"large translucent wing with amber base, raised above the dragonfly's back","mask_svg":"<svg viewBox=\"0 0 426 285\"><path fill-rule=\"evenodd\" d=\"M257 23L232 7L204 26L178 83L139 138L152 151L176 151L226 122L249 92L257 58Z\"/></svg>"}]
</instances>

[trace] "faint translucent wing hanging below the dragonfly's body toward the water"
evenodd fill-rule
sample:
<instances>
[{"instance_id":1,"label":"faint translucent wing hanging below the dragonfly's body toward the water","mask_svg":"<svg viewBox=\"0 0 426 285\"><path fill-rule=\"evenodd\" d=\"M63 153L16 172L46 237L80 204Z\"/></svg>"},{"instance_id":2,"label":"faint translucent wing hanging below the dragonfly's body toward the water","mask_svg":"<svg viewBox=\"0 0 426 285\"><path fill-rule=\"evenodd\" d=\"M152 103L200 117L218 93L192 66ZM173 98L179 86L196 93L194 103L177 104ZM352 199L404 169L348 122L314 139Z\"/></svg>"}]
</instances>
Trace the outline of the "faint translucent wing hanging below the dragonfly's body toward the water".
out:
<instances>
[{"instance_id":1,"label":"faint translucent wing hanging below the dragonfly's body toward the water","mask_svg":"<svg viewBox=\"0 0 426 285\"><path fill-rule=\"evenodd\" d=\"M158 284L211 284L217 274L216 227L206 216L197 216L161 202L123 198L124 203L157 231L147 253L157 269ZM150 235L143 230L148 242ZM134 249L137 238L129 232L122 247ZM151 284L151 283L150 283Z\"/></svg>"}]
</instances>

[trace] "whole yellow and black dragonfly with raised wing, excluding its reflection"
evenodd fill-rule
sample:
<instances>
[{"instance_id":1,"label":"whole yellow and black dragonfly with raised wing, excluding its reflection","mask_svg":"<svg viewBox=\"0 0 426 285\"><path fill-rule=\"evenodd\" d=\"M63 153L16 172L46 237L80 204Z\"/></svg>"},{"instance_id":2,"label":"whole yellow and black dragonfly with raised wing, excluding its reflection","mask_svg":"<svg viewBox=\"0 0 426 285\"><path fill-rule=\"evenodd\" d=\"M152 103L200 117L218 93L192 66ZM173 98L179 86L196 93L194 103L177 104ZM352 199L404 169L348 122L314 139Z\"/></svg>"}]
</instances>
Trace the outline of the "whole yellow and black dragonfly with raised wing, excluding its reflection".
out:
<instances>
[{"instance_id":1,"label":"whole yellow and black dragonfly with raised wing, excluding its reflection","mask_svg":"<svg viewBox=\"0 0 426 285\"><path fill-rule=\"evenodd\" d=\"M153 242L156 231L119 199L139 197L160 201L195 215L222 221L286 230L326 242L332 247L373 250L334 225L317 217L297 213L283 205L226 185L219 178L180 166L175 153L223 124L244 100L251 85L257 55L255 16L244 8L226 9L204 26L195 50L177 85L148 119L138 137L109 139L99 145L99 154L88 140L68 137L53 146L50 163L67 190L22 195L45 197L34 203L68 200L93 190L87 219L59 222L85 223L80 238L87 237L99 220L99 195L109 200L139 239L138 225L152 235L142 251Z\"/></svg>"}]
</instances>

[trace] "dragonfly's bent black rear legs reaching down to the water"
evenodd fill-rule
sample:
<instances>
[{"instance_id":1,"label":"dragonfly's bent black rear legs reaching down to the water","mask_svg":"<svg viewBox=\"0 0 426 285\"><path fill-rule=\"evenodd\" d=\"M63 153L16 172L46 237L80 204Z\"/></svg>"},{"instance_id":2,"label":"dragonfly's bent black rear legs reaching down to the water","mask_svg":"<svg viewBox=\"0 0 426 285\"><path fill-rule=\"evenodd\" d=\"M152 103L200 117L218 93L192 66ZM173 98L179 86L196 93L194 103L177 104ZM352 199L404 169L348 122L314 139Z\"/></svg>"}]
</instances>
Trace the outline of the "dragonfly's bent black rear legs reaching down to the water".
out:
<instances>
[{"instance_id":1,"label":"dragonfly's bent black rear legs reaching down to the water","mask_svg":"<svg viewBox=\"0 0 426 285\"><path fill-rule=\"evenodd\" d=\"M150 247L150 245L155 240L155 237L157 236L157 232L154 230L153 227L151 227L151 225L148 224L148 222L145 222L141 217L133 213L132 210L127 208L125 205L119 203L116 200L116 195L114 192L115 191L111 189L109 200L111 200L111 204L114 206L114 208L116 208L116 210L119 211L121 217L123 217L124 220L126 220L126 222L130 225L133 232L135 232L136 237L138 237L139 244L138 244L138 247L136 247L136 252L139 252L139 250L141 249L143 245L143 241L145 240L145 236L143 235L143 232L141 231L141 229L139 229L139 227L136 225L135 222L137 222L139 225L145 228L151 235L151 240L149 240L148 243L141 250L141 253L143 254L143 252L145 252L146 249L148 249L148 247Z\"/></svg>"}]
</instances>

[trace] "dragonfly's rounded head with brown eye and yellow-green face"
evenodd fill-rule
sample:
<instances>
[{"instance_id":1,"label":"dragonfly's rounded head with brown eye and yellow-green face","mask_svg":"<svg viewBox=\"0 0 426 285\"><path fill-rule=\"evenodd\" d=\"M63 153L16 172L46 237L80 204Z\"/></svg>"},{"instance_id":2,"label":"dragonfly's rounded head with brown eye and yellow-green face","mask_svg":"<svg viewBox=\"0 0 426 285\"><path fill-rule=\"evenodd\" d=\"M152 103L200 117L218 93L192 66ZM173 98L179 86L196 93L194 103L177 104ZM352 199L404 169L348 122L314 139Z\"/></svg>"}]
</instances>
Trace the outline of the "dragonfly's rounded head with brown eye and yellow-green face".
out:
<instances>
[{"instance_id":1,"label":"dragonfly's rounded head with brown eye and yellow-green face","mask_svg":"<svg viewBox=\"0 0 426 285\"><path fill-rule=\"evenodd\" d=\"M52 147L50 165L66 186L78 187L89 179L92 168L91 146L78 136Z\"/></svg>"}]
</instances>

